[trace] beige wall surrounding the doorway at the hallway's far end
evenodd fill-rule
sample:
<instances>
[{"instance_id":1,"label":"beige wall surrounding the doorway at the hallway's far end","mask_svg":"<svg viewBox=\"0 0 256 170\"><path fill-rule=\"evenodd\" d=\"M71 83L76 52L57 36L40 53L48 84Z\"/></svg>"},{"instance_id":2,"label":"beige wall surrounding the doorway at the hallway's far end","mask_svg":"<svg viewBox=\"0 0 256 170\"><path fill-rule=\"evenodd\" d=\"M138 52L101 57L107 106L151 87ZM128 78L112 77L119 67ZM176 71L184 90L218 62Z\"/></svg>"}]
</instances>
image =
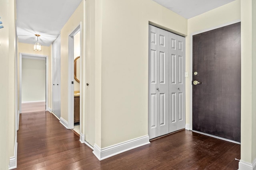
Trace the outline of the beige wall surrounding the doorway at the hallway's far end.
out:
<instances>
[{"instance_id":1,"label":"beige wall surrounding the doorway at the hallway's far end","mask_svg":"<svg viewBox=\"0 0 256 170\"><path fill-rule=\"evenodd\" d=\"M34 51L34 44L18 43L18 47L19 47L18 54L24 53L24 54L48 56L48 107L52 108L52 45L50 45L49 47L41 46L42 51Z\"/></svg>"}]
</instances>

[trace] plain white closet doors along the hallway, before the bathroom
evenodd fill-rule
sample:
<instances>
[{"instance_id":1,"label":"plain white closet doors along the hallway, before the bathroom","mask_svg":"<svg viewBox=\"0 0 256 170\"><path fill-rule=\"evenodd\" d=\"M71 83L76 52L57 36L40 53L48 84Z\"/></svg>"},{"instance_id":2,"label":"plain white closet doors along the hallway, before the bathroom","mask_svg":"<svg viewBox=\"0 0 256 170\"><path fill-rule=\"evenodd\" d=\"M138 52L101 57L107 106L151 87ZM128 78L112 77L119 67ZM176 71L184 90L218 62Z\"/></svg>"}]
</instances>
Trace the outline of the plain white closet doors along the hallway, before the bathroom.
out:
<instances>
[{"instance_id":1,"label":"plain white closet doors along the hallway, before the bathroom","mask_svg":"<svg viewBox=\"0 0 256 170\"><path fill-rule=\"evenodd\" d=\"M52 43L52 112L60 118L60 35Z\"/></svg>"}]
</instances>

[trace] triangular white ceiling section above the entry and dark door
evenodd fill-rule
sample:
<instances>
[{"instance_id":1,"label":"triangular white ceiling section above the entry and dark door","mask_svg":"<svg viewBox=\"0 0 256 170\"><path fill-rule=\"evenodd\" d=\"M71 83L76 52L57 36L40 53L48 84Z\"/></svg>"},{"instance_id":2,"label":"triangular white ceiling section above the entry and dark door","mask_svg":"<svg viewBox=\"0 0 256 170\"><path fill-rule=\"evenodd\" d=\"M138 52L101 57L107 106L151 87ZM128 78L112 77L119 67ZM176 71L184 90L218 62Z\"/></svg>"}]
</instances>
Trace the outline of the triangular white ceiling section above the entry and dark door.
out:
<instances>
[{"instance_id":1,"label":"triangular white ceiling section above the entry and dark door","mask_svg":"<svg viewBox=\"0 0 256 170\"><path fill-rule=\"evenodd\" d=\"M158 4L168 8L169 10L183 16L184 18L192 18L218 8L224 4L228 4L234 0L153 0Z\"/></svg>"}]
</instances>

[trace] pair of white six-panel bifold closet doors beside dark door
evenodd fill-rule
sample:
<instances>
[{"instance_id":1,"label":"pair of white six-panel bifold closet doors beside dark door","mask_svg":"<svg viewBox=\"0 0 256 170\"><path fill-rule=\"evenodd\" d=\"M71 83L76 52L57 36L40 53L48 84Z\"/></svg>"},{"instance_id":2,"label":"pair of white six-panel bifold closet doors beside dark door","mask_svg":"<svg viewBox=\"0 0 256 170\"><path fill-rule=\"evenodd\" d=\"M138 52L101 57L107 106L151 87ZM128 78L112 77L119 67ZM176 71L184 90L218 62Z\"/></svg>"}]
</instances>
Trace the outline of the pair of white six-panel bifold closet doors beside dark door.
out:
<instances>
[{"instance_id":1,"label":"pair of white six-panel bifold closet doors beside dark door","mask_svg":"<svg viewBox=\"0 0 256 170\"><path fill-rule=\"evenodd\" d=\"M185 38L149 25L148 134L185 128Z\"/></svg>"}]
</instances>

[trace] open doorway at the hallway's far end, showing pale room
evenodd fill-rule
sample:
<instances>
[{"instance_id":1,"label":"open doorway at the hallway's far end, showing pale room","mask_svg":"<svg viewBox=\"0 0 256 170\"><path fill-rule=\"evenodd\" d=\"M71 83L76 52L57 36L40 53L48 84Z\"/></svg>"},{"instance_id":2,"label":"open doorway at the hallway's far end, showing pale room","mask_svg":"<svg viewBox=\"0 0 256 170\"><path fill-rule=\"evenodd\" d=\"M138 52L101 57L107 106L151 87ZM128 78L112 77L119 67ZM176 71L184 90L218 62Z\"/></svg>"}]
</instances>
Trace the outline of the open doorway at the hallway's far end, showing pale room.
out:
<instances>
[{"instance_id":1,"label":"open doorway at the hallway's far end, showing pale room","mask_svg":"<svg viewBox=\"0 0 256 170\"><path fill-rule=\"evenodd\" d=\"M20 53L20 113L48 110L48 56Z\"/></svg>"}]
</instances>

